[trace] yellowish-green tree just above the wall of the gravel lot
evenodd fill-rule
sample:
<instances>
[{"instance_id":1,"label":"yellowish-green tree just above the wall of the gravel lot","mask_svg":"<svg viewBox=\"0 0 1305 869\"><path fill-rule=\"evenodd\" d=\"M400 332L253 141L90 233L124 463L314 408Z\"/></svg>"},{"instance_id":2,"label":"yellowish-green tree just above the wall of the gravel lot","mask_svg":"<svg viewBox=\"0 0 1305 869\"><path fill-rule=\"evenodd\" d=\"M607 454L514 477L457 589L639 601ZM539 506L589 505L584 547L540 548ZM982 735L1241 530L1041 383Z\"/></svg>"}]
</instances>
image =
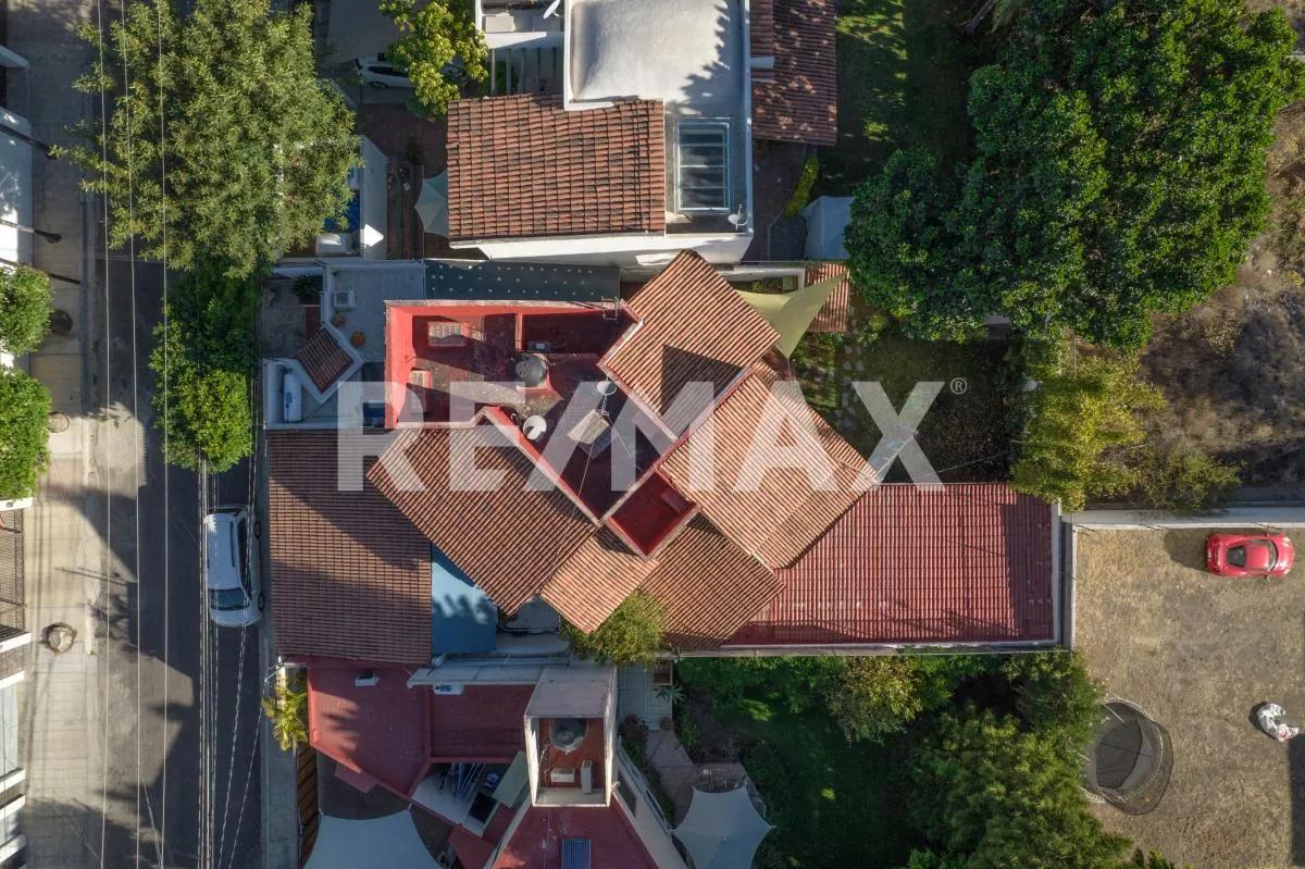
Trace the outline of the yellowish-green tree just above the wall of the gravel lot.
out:
<instances>
[{"instance_id":1,"label":"yellowish-green tree just above the wall of the gravel lot","mask_svg":"<svg viewBox=\"0 0 1305 869\"><path fill-rule=\"evenodd\" d=\"M1138 374L1135 359L1088 356L1049 346L1030 364L1037 388L1026 393L1026 428L1011 485L1079 510L1088 497L1126 492L1138 481L1121 448L1146 438L1138 414L1164 404Z\"/></svg>"}]
</instances>

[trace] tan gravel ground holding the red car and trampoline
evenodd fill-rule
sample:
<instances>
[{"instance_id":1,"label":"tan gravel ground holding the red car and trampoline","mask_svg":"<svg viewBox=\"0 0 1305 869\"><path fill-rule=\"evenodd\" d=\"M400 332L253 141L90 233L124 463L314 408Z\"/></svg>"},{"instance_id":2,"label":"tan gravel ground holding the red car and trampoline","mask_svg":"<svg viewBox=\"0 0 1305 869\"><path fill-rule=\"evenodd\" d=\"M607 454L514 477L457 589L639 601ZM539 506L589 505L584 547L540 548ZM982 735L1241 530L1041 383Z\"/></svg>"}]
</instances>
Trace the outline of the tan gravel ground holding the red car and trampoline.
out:
<instances>
[{"instance_id":1,"label":"tan gravel ground holding the red car and trampoline","mask_svg":"<svg viewBox=\"0 0 1305 869\"><path fill-rule=\"evenodd\" d=\"M1251 724L1265 701L1305 723L1305 569L1235 581L1202 572L1206 530L1077 536L1075 647L1105 690L1173 739L1160 805L1111 830L1193 866L1305 865L1305 736Z\"/></svg>"}]
</instances>

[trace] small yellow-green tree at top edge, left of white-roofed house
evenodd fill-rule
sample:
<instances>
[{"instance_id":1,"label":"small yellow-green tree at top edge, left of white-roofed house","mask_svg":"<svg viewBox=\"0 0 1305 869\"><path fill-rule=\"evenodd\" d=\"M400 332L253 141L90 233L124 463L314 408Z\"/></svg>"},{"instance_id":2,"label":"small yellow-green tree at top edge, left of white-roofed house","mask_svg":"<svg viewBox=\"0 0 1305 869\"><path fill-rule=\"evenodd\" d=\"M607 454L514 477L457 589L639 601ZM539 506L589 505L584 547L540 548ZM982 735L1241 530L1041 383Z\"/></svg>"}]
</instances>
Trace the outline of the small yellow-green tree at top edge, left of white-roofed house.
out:
<instances>
[{"instance_id":1,"label":"small yellow-green tree at top edge, left of white-roofed house","mask_svg":"<svg viewBox=\"0 0 1305 869\"><path fill-rule=\"evenodd\" d=\"M489 50L475 22L471 0L381 0L380 9L402 31L386 51L395 68L412 82L424 112L442 116L462 95L462 84L484 81Z\"/></svg>"}]
</instances>

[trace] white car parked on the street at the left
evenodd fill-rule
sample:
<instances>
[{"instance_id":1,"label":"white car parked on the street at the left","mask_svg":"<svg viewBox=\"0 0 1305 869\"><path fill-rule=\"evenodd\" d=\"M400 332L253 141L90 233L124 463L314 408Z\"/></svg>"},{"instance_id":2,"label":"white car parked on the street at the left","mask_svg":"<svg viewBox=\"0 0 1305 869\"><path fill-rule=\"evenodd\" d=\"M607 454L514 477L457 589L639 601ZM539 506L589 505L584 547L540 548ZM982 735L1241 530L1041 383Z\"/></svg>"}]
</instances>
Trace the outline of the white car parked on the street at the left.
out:
<instances>
[{"instance_id":1,"label":"white car parked on the street at the left","mask_svg":"<svg viewBox=\"0 0 1305 869\"><path fill-rule=\"evenodd\" d=\"M217 625L241 628L262 615L261 532L248 506L221 506L204 517L204 590Z\"/></svg>"}]
</instances>

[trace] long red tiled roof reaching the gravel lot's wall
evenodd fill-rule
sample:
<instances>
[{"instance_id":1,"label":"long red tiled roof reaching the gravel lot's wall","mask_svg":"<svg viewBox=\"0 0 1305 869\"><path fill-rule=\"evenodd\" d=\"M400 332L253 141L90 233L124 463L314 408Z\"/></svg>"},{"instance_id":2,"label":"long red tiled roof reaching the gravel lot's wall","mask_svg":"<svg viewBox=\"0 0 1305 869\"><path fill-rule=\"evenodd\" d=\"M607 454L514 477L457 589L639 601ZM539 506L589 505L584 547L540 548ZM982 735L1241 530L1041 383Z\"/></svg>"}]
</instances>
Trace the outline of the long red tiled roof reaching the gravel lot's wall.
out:
<instances>
[{"instance_id":1,"label":"long red tiled roof reaching the gravel lot's wall","mask_svg":"<svg viewBox=\"0 0 1305 869\"><path fill-rule=\"evenodd\" d=\"M1001 483L872 489L729 643L1053 639L1052 517Z\"/></svg>"}]
</instances>

